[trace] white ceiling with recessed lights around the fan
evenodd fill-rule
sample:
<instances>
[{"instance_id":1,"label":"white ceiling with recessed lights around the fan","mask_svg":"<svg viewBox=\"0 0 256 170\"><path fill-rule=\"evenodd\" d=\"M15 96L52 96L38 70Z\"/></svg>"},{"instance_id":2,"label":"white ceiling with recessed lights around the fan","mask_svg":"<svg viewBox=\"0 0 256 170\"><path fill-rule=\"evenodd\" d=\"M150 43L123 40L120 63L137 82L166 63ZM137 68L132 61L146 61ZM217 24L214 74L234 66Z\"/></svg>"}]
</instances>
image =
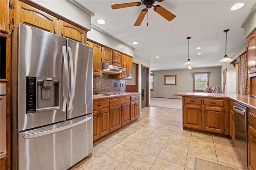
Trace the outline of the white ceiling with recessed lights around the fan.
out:
<instances>
[{"instance_id":1,"label":"white ceiling with recessed lights around the fan","mask_svg":"<svg viewBox=\"0 0 256 170\"><path fill-rule=\"evenodd\" d=\"M134 54L151 61L151 70L186 69L183 65L188 59L188 40L190 39L190 59L192 68L217 67L225 55L227 32L227 55L231 57L247 41L241 28L246 17L254 8L255 0L165 0L155 2L176 18L168 22L165 18L148 9L141 26L133 26L144 5L112 10L112 4L140 2L140 0L76 0L94 13L92 25L118 38L135 48ZM244 7L230 10L237 3ZM106 24L96 21L103 19ZM138 42L133 45L132 42ZM201 47L201 49L196 49ZM201 55L197 55L201 53ZM159 58L156 58L159 56Z\"/></svg>"}]
</instances>

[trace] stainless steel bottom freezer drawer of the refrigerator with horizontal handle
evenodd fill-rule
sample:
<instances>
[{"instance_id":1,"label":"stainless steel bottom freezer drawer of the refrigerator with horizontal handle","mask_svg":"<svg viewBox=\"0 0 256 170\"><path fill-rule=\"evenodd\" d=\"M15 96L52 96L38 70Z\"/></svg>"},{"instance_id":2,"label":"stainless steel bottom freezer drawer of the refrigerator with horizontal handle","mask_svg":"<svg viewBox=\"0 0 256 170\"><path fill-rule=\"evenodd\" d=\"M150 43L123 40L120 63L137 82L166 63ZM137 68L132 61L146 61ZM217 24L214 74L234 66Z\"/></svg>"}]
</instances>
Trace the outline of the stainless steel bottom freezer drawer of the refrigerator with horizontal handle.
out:
<instances>
[{"instance_id":1,"label":"stainless steel bottom freezer drawer of the refrigerator with horizontal handle","mask_svg":"<svg viewBox=\"0 0 256 170\"><path fill-rule=\"evenodd\" d=\"M66 170L92 153L92 114L17 133L13 169ZM14 156L17 158L17 156ZM15 161L15 160L13 160ZM16 167L15 167L16 166Z\"/></svg>"}]
</instances>

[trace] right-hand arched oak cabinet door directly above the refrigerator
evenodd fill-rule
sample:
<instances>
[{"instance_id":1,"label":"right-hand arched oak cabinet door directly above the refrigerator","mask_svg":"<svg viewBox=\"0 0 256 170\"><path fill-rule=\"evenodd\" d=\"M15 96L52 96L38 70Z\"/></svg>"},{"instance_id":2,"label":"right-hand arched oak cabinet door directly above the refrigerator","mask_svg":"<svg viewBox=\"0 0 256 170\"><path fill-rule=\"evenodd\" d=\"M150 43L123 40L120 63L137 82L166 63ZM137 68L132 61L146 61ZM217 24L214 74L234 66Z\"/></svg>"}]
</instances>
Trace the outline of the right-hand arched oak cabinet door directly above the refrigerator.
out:
<instances>
[{"instance_id":1,"label":"right-hand arched oak cabinet door directly above the refrigerator","mask_svg":"<svg viewBox=\"0 0 256 170\"><path fill-rule=\"evenodd\" d=\"M59 20L59 35L62 37L70 38L76 40L80 43L86 43L86 31L67 22Z\"/></svg>"}]
</instances>

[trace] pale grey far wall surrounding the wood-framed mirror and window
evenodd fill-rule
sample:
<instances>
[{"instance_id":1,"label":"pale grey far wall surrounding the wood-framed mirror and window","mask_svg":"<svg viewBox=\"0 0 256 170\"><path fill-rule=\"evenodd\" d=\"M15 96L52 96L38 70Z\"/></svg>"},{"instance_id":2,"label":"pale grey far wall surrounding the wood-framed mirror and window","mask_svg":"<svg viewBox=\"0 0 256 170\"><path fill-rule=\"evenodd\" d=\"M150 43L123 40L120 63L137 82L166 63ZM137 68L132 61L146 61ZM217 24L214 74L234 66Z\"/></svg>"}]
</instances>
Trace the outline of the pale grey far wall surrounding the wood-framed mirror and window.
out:
<instances>
[{"instance_id":1,"label":"pale grey far wall surrounding the wood-framed mirror and window","mask_svg":"<svg viewBox=\"0 0 256 170\"><path fill-rule=\"evenodd\" d=\"M192 92L193 72L211 72L209 86L221 86L221 67L152 71L152 74L154 74L154 91L151 91L151 97L182 99L182 97L174 96L172 93ZM164 75L177 75L177 85L164 85Z\"/></svg>"}]
</instances>

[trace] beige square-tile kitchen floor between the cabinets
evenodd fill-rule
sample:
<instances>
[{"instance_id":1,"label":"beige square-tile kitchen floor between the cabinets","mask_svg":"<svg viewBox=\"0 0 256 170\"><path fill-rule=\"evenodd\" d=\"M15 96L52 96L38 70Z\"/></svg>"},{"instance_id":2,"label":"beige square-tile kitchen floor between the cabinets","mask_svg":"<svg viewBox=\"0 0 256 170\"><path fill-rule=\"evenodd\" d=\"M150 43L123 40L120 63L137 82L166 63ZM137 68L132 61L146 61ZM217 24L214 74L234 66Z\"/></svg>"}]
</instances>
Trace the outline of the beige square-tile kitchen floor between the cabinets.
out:
<instances>
[{"instance_id":1,"label":"beige square-tile kitchen floor between the cabinets","mask_svg":"<svg viewBox=\"0 0 256 170\"><path fill-rule=\"evenodd\" d=\"M145 107L140 118L94 143L72 170L190 170L195 157L246 169L229 138L183 130L182 110Z\"/></svg>"}]
</instances>

